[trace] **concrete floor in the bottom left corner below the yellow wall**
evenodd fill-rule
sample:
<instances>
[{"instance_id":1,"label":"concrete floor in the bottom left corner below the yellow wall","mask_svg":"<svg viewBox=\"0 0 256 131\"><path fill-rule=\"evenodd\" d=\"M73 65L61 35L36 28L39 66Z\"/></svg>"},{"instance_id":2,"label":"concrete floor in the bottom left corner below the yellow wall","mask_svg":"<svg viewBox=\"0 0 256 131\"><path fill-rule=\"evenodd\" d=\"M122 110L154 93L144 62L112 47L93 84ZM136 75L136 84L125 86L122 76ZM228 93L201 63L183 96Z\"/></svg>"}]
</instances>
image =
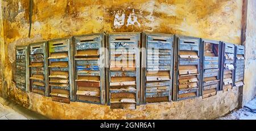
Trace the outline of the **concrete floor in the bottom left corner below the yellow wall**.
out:
<instances>
[{"instance_id":1,"label":"concrete floor in the bottom left corner below the yellow wall","mask_svg":"<svg viewBox=\"0 0 256 131\"><path fill-rule=\"evenodd\" d=\"M14 102L0 98L0 120L45 120L46 117L32 112Z\"/></svg>"}]
</instances>

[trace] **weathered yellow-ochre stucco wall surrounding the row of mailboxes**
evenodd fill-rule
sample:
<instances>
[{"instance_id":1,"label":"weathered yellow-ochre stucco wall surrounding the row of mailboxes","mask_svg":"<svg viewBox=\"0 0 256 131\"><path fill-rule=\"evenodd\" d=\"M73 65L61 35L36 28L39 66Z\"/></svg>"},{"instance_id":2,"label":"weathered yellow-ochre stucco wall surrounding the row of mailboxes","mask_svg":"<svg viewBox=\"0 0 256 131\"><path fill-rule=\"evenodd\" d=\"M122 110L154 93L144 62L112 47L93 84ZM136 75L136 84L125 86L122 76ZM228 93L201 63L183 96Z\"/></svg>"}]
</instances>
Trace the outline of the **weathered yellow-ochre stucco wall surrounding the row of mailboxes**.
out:
<instances>
[{"instance_id":1,"label":"weathered yellow-ochre stucco wall surrounding the row of mailboxes","mask_svg":"<svg viewBox=\"0 0 256 131\"><path fill-rule=\"evenodd\" d=\"M15 46L97 32L162 32L240 44L242 0L34 0L28 38L28 0L3 0L2 86L9 99L52 119L214 119L237 107L238 91L207 99L139 105L135 110L107 105L52 102L15 88ZM3 51L2 51L3 50Z\"/></svg>"}]
</instances>

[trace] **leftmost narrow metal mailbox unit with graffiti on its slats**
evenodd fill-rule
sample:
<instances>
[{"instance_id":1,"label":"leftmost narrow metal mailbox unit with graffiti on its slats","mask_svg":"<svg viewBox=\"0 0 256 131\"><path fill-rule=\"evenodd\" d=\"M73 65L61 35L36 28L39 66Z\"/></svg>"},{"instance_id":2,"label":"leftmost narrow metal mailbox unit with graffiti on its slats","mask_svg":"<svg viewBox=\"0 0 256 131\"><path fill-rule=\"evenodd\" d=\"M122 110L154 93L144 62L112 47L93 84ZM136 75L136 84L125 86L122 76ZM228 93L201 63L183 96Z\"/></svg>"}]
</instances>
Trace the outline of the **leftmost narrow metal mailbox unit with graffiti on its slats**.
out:
<instances>
[{"instance_id":1,"label":"leftmost narrow metal mailbox unit with graffiti on its slats","mask_svg":"<svg viewBox=\"0 0 256 131\"><path fill-rule=\"evenodd\" d=\"M15 81L16 87L20 88L22 91L29 90L29 70L28 70L28 50L27 46L17 46L15 49L16 53L16 71L15 71Z\"/></svg>"}]
</instances>

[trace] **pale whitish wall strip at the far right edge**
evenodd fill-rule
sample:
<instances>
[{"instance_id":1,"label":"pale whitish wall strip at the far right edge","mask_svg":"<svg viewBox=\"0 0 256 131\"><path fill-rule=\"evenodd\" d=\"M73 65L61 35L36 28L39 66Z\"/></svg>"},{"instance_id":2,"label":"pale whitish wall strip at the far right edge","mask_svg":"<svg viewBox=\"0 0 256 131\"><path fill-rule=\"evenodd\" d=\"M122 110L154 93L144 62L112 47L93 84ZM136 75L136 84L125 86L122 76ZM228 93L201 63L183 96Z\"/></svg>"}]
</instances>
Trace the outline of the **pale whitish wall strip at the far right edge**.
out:
<instances>
[{"instance_id":1,"label":"pale whitish wall strip at the far right edge","mask_svg":"<svg viewBox=\"0 0 256 131\"><path fill-rule=\"evenodd\" d=\"M256 1L247 3L247 24L245 40L245 86L243 87L243 104L256 94Z\"/></svg>"}]
</instances>

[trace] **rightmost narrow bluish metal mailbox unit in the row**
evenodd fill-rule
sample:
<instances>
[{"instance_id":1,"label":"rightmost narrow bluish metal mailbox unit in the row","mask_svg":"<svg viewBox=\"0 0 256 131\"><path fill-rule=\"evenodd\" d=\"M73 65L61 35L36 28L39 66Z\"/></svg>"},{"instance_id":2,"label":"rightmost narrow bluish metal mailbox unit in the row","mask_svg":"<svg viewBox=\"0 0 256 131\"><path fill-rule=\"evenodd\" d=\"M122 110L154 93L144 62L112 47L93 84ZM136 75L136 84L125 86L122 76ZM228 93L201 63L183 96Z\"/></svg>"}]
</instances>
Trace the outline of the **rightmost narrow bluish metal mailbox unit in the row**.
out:
<instances>
[{"instance_id":1,"label":"rightmost narrow bluish metal mailbox unit in the row","mask_svg":"<svg viewBox=\"0 0 256 131\"><path fill-rule=\"evenodd\" d=\"M236 55L235 55L235 72L234 72L234 85L236 87L243 86L243 75L245 71L245 46L237 45L236 46Z\"/></svg>"}]
</instances>

